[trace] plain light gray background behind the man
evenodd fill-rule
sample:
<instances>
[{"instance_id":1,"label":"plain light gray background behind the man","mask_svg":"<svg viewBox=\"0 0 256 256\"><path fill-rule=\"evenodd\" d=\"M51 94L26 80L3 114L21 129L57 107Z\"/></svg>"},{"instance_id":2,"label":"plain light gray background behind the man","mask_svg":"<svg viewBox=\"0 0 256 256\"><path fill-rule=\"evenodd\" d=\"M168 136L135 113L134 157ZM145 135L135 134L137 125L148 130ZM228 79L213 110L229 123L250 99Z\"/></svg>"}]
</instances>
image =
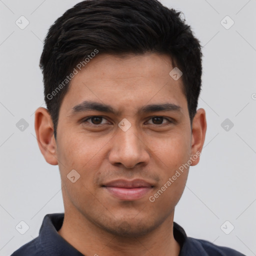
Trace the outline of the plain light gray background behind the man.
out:
<instances>
[{"instance_id":1,"label":"plain light gray background behind the man","mask_svg":"<svg viewBox=\"0 0 256 256\"><path fill-rule=\"evenodd\" d=\"M55 19L77 2L0 0L1 256L36 237L45 214L63 212L58 167L46 163L39 151L33 113L45 106L38 67L42 40ZM198 107L206 110L208 128L174 221L188 236L256 255L256 0L161 2L184 13L204 46ZM24 29L15 24L21 15L29 21ZM226 15L234 21L229 29ZM23 130L21 118L28 124ZM24 234L15 229L21 220L29 226ZM225 234L231 225L234 229Z\"/></svg>"}]
</instances>

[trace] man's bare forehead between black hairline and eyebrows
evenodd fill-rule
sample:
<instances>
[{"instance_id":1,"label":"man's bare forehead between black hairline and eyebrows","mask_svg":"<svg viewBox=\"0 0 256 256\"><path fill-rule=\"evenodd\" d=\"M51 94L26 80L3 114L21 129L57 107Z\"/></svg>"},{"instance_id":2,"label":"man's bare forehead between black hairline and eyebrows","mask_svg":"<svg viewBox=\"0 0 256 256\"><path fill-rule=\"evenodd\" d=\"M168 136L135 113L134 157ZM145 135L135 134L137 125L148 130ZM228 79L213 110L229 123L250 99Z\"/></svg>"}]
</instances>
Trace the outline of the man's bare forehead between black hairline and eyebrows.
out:
<instances>
[{"instance_id":1,"label":"man's bare forehead between black hairline and eyebrows","mask_svg":"<svg viewBox=\"0 0 256 256\"><path fill-rule=\"evenodd\" d=\"M85 100L128 108L145 103L182 108L186 106L182 79L174 80L169 74L172 69L165 54L99 54L72 78L63 105L67 111Z\"/></svg>"}]
</instances>

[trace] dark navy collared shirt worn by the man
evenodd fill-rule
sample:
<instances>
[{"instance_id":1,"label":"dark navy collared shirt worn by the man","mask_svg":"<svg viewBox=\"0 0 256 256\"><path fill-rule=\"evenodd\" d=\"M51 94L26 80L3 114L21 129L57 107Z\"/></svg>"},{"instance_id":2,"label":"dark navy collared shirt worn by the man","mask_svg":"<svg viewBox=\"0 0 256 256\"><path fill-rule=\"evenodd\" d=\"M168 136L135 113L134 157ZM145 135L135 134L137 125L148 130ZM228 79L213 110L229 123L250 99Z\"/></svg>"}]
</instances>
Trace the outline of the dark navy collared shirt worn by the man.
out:
<instances>
[{"instance_id":1,"label":"dark navy collared shirt worn by the man","mask_svg":"<svg viewBox=\"0 0 256 256\"><path fill-rule=\"evenodd\" d=\"M11 256L84 256L58 234L64 213L44 216L39 235L14 251ZM173 235L180 244L179 256L245 256L209 241L187 237L184 229L173 222Z\"/></svg>"}]
</instances>

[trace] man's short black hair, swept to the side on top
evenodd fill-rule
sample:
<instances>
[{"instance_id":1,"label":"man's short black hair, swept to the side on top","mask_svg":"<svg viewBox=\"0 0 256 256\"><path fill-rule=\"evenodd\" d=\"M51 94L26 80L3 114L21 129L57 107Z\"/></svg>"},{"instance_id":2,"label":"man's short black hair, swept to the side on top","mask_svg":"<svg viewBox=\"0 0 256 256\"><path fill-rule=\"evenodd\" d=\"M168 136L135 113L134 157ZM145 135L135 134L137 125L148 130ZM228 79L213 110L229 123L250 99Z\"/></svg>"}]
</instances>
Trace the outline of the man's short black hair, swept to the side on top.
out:
<instances>
[{"instance_id":1,"label":"man's short black hair, swept to the side on top","mask_svg":"<svg viewBox=\"0 0 256 256\"><path fill-rule=\"evenodd\" d=\"M85 0L64 12L44 40L40 68L44 100L54 125L72 73L96 53L163 53L182 71L192 121L201 87L201 46L182 12L157 0Z\"/></svg>"}]
</instances>

